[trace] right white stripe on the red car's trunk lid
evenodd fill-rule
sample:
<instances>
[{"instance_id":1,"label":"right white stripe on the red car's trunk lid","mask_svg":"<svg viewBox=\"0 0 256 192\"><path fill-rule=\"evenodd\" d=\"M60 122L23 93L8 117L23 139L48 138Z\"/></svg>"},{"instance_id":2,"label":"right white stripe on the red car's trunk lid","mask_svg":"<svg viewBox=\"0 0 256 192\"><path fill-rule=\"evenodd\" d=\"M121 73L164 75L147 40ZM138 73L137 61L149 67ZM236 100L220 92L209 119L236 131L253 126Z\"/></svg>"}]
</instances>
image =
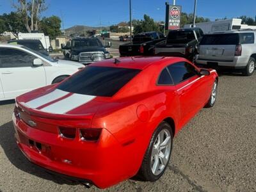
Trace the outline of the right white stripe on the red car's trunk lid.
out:
<instances>
[{"instance_id":1,"label":"right white stripe on the red car's trunk lid","mask_svg":"<svg viewBox=\"0 0 256 192\"><path fill-rule=\"evenodd\" d=\"M94 98L95 96L74 93L65 99L42 108L41 111L47 113L63 114L81 106L82 104L86 104L86 102L90 102L90 100L93 100Z\"/></svg>"}]
</instances>

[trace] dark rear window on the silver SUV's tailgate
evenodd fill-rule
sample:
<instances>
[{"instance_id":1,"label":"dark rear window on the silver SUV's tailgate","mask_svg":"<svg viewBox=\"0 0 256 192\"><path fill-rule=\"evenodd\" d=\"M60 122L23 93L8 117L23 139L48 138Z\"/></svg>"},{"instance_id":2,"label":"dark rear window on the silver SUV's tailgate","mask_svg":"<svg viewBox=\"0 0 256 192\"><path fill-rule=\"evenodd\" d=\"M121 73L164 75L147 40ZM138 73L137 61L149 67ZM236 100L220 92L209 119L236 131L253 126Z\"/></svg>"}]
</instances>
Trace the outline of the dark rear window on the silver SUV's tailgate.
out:
<instances>
[{"instance_id":1,"label":"dark rear window on the silver SUV's tailgate","mask_svg":"<svg viewBox=\"0 0 256 192\"><path fill-rule=\"evenodd\" d=\"M200 42L200 45L237 45L237 44L239 44L238 33L205 35Z\"/></svg>"}]
</instances>

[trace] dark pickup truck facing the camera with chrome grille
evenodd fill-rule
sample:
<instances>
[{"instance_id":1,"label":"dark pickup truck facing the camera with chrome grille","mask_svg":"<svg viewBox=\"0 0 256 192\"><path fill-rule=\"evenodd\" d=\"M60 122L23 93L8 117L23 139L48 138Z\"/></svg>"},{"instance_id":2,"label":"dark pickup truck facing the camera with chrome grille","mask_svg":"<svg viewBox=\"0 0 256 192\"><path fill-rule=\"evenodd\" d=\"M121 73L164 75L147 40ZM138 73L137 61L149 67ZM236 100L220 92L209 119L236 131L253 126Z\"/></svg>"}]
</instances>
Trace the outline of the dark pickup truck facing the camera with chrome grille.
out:
<instances>
[{"instance_id":1,"label":"dark pickup truck facing the camera with chrome grille","mask_svg":"<svg viewBox=\"0 0 256 192\"><path fill-rule=\"evenodd\" d=\"M70 46L61 46L62 49L70 50L70 60L85 65L111 58L110 53L105 49L111 47L111 42L104 46L98 38L74 38Z\"/></svg>"}]
</instances>

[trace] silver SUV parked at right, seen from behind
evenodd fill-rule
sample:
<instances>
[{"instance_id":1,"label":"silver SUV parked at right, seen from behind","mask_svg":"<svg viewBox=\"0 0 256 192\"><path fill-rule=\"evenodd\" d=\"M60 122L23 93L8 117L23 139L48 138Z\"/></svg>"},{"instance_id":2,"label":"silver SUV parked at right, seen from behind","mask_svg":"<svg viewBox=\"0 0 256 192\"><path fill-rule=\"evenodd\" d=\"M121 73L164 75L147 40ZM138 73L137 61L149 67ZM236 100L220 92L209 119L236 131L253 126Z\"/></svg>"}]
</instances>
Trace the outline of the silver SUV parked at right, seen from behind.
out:
<instances>
[{"instance_id":1,"label":"silver SUV parked at right, seen from behind","mask_svg":"<svg viewBox=\"0 0 256 192\"><path fill-rule=\"evenodd\" d=\"M196 63L205 67L240 68L251 76L256 67L256 31L221 31L205 35L199 45Z\"/></svg>"}]
</instances>

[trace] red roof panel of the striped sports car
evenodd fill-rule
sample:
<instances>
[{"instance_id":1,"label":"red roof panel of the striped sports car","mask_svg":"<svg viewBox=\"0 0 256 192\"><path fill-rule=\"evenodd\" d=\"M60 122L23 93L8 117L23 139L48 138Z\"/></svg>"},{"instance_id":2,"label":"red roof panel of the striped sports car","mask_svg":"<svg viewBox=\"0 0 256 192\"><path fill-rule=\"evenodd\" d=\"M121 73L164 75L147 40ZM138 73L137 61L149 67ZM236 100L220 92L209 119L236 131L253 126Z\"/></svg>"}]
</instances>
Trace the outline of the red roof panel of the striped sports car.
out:
<instances>
[{"instance_id":1,"label":"red roof panel of the striped sports car","mask_svg":"<svg viewBox=\"0 0 256 192\"><path fill-rule=\"evenodd\" d=\"M135 57L124 57L124 58L115 58L111 60L99 61L93 63L90 66L97 67L120 67L120 68L134 68L143 70L144 68L149 67L150 65L158 65L164 61L168 61L169 64L176 61L185 61L184 58L178 57L164 57L164 56L135 56Z\"/></svg>"}]
</instances>

